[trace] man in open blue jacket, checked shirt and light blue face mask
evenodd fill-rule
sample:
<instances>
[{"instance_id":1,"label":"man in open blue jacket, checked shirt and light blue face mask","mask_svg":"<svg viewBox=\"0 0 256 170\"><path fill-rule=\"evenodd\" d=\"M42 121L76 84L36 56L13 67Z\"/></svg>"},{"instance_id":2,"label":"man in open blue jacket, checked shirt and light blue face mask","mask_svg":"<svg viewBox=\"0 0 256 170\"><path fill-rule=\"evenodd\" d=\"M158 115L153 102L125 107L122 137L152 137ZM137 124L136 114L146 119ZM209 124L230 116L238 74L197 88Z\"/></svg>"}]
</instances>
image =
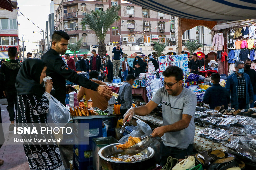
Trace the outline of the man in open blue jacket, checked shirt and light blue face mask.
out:
<instances>
[{"instance_id":1,"label":"man in open blue jacket, checked shirt and light blue face mask","mask_svg":"<svg viewBox=\"0 0 256 170\"><path fill-rule=\"evenodd\" d=\"M244 73L244 63L235 63L235 72L228 76L225 88L230 90L231 108L249 109L253 101L253 88L248 74Z\"/></svg>"}]
</instances>

